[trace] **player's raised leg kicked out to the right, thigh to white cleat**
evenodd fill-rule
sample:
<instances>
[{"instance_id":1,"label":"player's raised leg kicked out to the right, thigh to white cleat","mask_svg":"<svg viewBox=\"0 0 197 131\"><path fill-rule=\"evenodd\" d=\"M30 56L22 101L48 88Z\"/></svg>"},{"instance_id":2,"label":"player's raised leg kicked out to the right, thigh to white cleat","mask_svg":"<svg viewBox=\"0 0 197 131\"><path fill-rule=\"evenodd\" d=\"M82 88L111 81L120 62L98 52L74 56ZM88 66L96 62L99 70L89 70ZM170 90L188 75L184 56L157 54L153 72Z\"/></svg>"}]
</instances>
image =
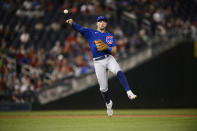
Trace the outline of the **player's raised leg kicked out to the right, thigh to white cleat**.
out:
<instances>
[{"instance_id":1,"label":"player's raised leg kicked out to the right, thigh to white cleat","mask_svg":"<svg viewBox=\"0 0 197 131\"><path fill-rule=\"evenodd\" d=\"M128 84L126 76L121 71L119 64L117 63L117 61L115 60L115 58L113 56L109 57L107 67L112 73L117 75L117 77L120 81L120 84L124 87L129 99L131 99L131 100L135 99L137 96L135 94L133 94L133 92L131 91L131 88Z\"/></svg>"}]
</instances>

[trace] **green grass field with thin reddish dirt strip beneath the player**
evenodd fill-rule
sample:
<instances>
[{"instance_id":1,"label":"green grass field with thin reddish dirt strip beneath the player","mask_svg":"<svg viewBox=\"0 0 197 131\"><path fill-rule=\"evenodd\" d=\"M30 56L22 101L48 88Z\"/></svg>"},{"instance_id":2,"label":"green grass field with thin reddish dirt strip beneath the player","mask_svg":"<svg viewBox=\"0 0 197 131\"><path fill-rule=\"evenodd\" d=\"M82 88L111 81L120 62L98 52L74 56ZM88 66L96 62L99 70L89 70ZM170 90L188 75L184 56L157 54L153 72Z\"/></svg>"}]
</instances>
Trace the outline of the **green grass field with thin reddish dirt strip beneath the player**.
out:
<instances>
[{"instance_id":1,"label":"green grass field with thin reddish dirt strip beneath the player","mask_svg":"<svg viewBox=\"0 0 197 131\"><path fill-rule=\"evenodd\" d=\"M197 109L0 112L0 131L197 131Z\"/></svg>"}]
</instances>

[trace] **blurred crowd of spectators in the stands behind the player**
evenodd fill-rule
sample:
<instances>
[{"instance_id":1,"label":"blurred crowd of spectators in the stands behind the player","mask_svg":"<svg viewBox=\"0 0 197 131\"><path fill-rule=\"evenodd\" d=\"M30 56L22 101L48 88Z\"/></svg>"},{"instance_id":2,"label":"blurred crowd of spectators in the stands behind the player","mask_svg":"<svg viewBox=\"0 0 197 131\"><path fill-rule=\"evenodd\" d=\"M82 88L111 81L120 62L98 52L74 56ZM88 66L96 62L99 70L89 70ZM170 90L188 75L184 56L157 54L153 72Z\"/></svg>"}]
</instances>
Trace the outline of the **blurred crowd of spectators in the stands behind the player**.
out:
<instances>
[{"instance_id":1,"label":"blurred crowd of spectators in the stands behind the player","mask_svg":"<svg viewBox=\"0 0 197 131\"><path fill-rule=\"evenodd\" d=\"M0 101L33 102L35 91L56 80L94 71L88 43L65 24L64 9L73 12L67 17L90 28L96 27L97 16L106 15L117 57L125 58L156 35L181 32L197 40L196 5L184 0L0 0Z\"/></svg>"}]
</instances>

